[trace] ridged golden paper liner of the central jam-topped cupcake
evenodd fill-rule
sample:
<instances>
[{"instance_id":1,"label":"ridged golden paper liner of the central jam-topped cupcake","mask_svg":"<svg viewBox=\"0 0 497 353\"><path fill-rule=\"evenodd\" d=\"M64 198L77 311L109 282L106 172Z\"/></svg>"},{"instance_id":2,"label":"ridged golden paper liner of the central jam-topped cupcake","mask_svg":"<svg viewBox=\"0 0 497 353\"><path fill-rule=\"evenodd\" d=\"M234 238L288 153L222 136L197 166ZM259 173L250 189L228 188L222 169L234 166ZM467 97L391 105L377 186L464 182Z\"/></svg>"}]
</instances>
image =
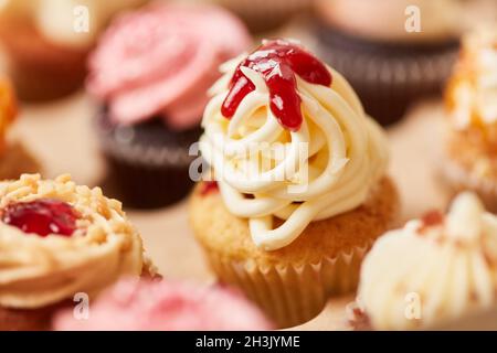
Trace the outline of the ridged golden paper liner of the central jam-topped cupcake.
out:
<instances>
[{"instance_id":1,"label":"ridged golden paper liner of the central jam-topped cupcake","mask_svg":"<svg viewBox=\"0 0 497 353\"><path fill-rule=\"evenodd\" d=\"M318 315L332 296L353 291L362 259L372 243L317 264L261 267L253 260L208 259L223 284L242 289L277 324L289 328Z\"/></svg>"}]
</instances>

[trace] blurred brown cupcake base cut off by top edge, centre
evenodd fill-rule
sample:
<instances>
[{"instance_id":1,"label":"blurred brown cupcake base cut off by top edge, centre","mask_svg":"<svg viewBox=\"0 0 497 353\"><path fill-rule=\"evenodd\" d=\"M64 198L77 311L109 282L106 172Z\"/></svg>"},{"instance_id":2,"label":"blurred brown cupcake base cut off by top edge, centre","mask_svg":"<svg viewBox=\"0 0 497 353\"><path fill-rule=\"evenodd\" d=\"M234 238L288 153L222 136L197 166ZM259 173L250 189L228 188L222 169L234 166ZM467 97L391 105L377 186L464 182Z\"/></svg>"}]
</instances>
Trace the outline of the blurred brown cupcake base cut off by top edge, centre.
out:
<instances>
[{"instance_id":1,"label":"blurred brown cupcake base cut off by top edge, centre","mask_svg":"<svg viewBox=\"0 0 497 353\"><path fill-rule=\"evenodd\" d=\"M307 12L313 0L208 0L230 9L253 32L274 30L292 17Z\"/></svg>"}]
</instances>

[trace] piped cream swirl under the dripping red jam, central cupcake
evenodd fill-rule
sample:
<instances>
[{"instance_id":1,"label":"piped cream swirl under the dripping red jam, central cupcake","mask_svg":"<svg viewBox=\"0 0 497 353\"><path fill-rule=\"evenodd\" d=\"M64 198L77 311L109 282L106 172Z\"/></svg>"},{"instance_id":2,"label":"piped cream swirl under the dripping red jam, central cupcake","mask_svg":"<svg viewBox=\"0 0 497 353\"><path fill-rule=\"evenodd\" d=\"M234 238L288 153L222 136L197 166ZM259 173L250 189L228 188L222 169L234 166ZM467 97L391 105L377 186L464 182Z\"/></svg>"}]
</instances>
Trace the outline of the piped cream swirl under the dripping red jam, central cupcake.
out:
<instances>
[{"instance_id":1,"label":"piped cream swirl under the dripping red jam, central cupcake","mask_svg":"<svg viewBox=\"0 0 497 353\"><path fill-rule=\"evenodd\" d=\"M385 171L387 142L350 85L329 67L331 86L296 77L298 130L278 124L262 75L248 67L241 69L255 89L226 119L221 108L241 60L221 66L224 75L210 90L200 149L229 211L248 218L257 246L274 250L310 222L359 206ZM275 218L283 223L275 227Z\"/></svg>"}]
</instances>

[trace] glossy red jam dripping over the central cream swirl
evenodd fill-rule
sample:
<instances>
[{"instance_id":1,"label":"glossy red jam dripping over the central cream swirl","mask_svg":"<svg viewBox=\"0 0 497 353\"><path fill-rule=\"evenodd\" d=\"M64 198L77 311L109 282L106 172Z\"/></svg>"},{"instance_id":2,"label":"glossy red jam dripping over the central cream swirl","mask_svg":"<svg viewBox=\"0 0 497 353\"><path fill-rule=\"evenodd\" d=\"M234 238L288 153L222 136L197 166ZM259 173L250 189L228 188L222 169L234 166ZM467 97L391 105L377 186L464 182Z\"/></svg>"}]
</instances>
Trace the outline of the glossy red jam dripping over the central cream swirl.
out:
<instances>
[{"instance_id":1,"label":"glossy red jam dripping over the central cream swirl","mask_svg":"<svg viewBox=\"0 0 497 353\"><path fill-rule=\"evenodd\" d=\"M331 74L326 66L299 45L283 40L265 41L236 67L221 107L226 118L233 117L243 98L255 89L255 85L243 74L242 66L262 75L269 89L271 110L278 122L290 131L297 131L303 121L295 74L311 84L331 85Z\"/></svg>"}]
</instances>

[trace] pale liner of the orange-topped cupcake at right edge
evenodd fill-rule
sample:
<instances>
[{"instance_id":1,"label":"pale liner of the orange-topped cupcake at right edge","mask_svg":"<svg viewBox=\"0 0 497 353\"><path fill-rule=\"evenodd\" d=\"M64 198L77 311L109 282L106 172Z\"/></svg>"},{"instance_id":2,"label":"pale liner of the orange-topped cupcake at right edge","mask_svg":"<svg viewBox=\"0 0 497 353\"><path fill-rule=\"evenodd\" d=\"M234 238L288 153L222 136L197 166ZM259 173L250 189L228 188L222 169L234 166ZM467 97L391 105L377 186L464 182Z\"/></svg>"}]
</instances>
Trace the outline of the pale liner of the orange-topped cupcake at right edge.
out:
<instances>
[{"instance_id":1,"label":"pale liner of the orange-topped cupcake at right edge","mask_svg":"<svg viewBox=\"0 0 497 353\"><path fill-rule=\"evenodd\" d=\"M448 158L442 162L440 173L453 194L464 190L474 191L488 211L497 213L496 180L475 175Z\"/></svg>"}]
</instances>

